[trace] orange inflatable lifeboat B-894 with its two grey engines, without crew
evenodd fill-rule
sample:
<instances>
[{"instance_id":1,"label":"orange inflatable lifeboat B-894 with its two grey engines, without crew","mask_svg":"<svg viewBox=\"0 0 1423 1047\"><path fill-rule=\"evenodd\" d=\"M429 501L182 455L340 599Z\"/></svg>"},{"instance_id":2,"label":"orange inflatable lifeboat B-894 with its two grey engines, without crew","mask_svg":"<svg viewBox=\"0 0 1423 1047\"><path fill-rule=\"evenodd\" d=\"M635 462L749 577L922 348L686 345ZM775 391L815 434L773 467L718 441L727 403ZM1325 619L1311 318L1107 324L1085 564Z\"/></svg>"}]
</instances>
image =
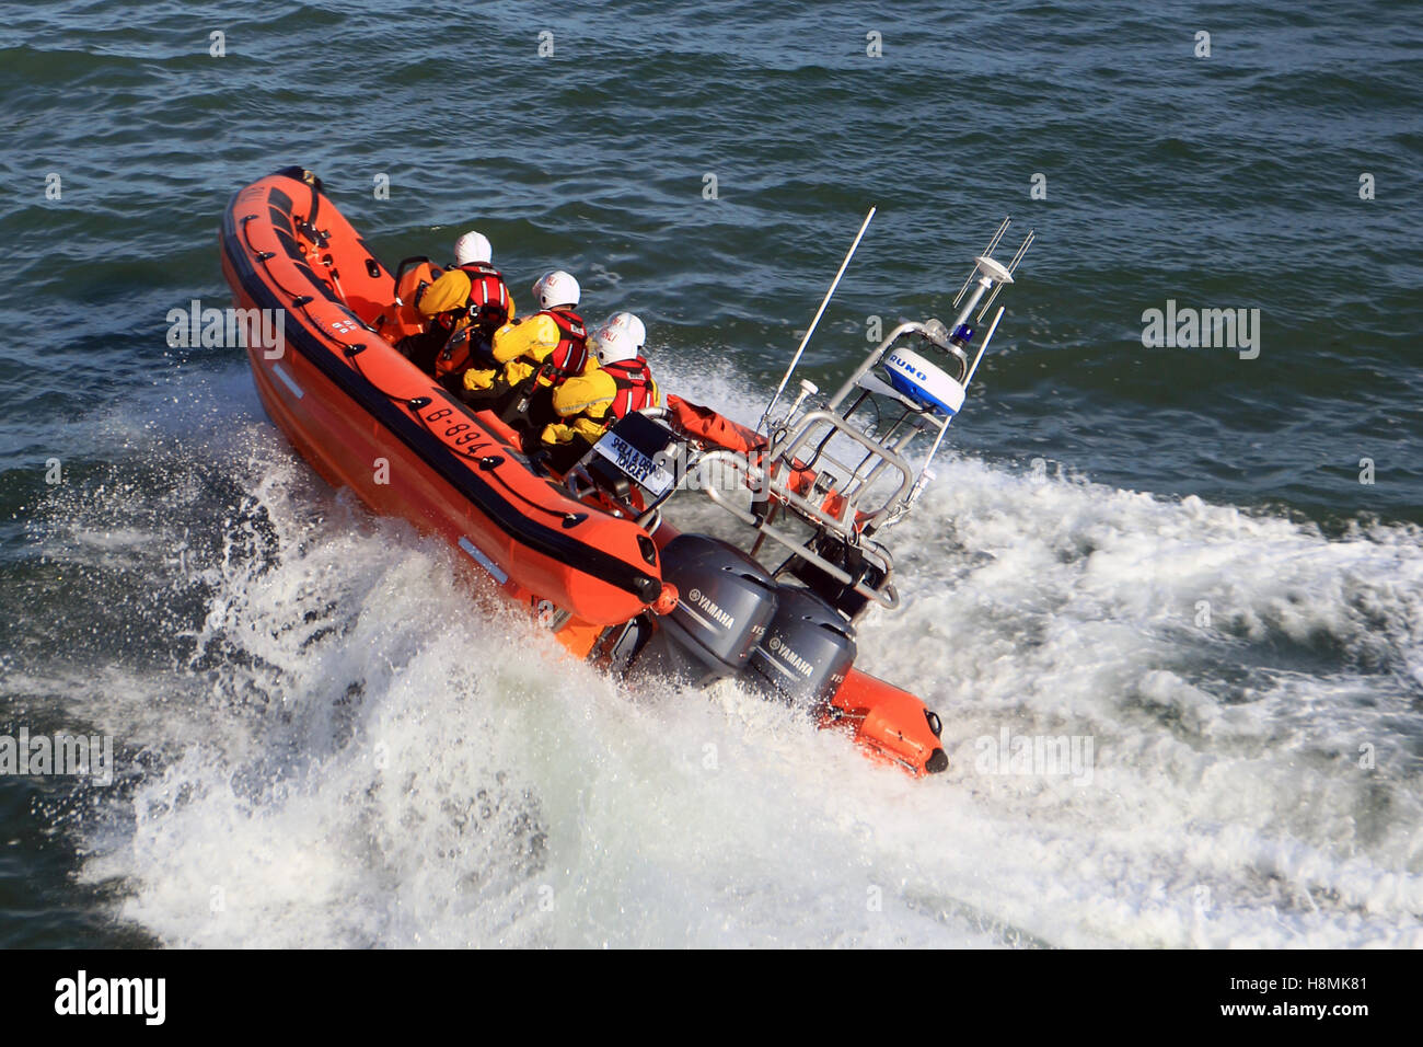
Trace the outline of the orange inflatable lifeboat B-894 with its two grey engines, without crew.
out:
<instances>
[{"instance_id":1,"label":"orange inflatable lifeboat B-894 with its two grey engines, without crew","mask_svg":"<svg viewBox=\"0 0 1423 1047\"><path fill-rule=\"evenodd\" d=\"M407 259L418 264L400 266L397 286L302 168L239 189L219 242L236 305L282 311L280 343L249 339L248 358L268 415L326 480L443 536L581 658L630 677L737 675L914 775L948 766L938 718L852 667L852 628L822 594L727 543L679 534L657 511L667 491L626 463L615 469L608 450L628 447L646 466L639 440L707 433L633 415L566 476L549 473L519 432L391 345L420 329L408 295L433 275L428 264Z\"/></svg>"}]
</instances>

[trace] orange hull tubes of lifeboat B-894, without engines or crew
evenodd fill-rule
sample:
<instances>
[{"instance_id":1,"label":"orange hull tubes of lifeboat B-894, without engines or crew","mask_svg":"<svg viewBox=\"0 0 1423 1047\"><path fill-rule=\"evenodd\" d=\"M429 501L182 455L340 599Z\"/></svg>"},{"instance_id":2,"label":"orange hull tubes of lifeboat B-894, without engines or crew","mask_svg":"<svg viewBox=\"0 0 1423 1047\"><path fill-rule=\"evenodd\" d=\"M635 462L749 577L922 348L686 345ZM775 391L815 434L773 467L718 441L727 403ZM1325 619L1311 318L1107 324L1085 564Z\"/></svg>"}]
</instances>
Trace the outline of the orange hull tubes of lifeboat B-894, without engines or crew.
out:
<instances>
[{"instance_id":1,"label":"orange hull tubes of lifeboat B-894, without engines or crew","mask_svg":"<svg viewBox=\"0 0 1423 1047\"><path fill-rule=\"evenodd\" d=\"M474 413L371 326L394 282L314 177L289 168L238 191L222 268L243 309L280 309L285 345L249 340L272 420L332 484L460 548L507 598L586 657L606 627L665 608L660 547L633 520L571 499L512 430ZM822 718L911 773L946 766L924 704L851 670ZM936 721L935 721L936 722Z\"/></svg>"}]
</instances>

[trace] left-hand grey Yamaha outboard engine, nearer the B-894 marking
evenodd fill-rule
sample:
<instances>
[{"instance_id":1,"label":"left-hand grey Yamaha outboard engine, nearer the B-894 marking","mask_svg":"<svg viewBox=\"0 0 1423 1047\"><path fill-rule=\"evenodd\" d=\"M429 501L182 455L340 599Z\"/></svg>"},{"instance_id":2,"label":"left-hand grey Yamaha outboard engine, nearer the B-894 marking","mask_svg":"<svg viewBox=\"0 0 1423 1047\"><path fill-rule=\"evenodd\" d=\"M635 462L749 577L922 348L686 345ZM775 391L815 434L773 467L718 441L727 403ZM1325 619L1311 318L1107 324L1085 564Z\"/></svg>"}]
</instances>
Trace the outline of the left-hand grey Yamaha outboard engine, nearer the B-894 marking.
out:
<instances>
[{"instance_id":1,"label":"left-hand grey Yamaha outboard engine, nearer the B-894 marking","mask_svg":"<svg viewBox=\"0 0 1423 1047\"><path fill-rule=\"evenodd\" d=\"M662 577L677 605L638 655L635 670L696 685L746 668L776 614L776 581L739 548L704 534L679 534L662 550Z\"/></svg>"}]
</instances>

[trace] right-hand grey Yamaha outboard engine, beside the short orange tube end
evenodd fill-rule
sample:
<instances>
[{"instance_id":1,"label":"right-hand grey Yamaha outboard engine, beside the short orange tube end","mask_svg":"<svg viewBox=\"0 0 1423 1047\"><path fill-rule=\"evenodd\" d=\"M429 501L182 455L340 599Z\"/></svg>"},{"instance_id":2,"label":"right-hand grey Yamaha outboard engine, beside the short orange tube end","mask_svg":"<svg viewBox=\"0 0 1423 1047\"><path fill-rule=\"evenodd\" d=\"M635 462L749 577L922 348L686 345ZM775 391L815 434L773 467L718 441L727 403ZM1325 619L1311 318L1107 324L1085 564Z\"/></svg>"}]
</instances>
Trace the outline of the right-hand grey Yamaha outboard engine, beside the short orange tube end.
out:
<instances>
[{"instance_id":1,"label":"right-hand grey Yamaha outboard engine, beside the short orange tube end","mask_svg":"<svg viewBox=\"0 0 1423 1047\"><path fill-rule=\"evenodd\" d=\"M834 607L801 585L776 593L776 617L751 654L747 675L795 705L830 702L855 662L854 631Z\"/></svg>"}]
</instances>

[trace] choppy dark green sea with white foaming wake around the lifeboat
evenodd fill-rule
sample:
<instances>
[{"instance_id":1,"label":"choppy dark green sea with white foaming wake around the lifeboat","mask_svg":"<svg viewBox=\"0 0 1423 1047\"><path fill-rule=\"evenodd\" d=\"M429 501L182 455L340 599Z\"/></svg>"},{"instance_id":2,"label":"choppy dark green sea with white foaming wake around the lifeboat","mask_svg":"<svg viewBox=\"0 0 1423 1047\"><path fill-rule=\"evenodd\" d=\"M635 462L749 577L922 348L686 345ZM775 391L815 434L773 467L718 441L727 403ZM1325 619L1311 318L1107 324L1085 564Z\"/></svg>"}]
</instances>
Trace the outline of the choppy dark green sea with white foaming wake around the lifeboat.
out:
<instances>
[{"instance_id":1,"label":"choppy dark green sea with white foaming wake around the lifeboat","mask_svg":"<svg viewBox=\"0 0 1423 1047\"><path fill-rule=\"evenodd\" d=\"M243 11L0 28L0 735L118 761L0 779L0 942L1423 943L1406 4ZM388 262L478 225L525 301L573 271L747 420L871 204L817 377L1035 228L861 634L951 771L569 664L317 480L239 352L171 349L293 162ZM1258 355L1144 346L1168 302L1258 309ZM990 773L1003 731L1090 781Z\"/></svg>"}]
</instances>

